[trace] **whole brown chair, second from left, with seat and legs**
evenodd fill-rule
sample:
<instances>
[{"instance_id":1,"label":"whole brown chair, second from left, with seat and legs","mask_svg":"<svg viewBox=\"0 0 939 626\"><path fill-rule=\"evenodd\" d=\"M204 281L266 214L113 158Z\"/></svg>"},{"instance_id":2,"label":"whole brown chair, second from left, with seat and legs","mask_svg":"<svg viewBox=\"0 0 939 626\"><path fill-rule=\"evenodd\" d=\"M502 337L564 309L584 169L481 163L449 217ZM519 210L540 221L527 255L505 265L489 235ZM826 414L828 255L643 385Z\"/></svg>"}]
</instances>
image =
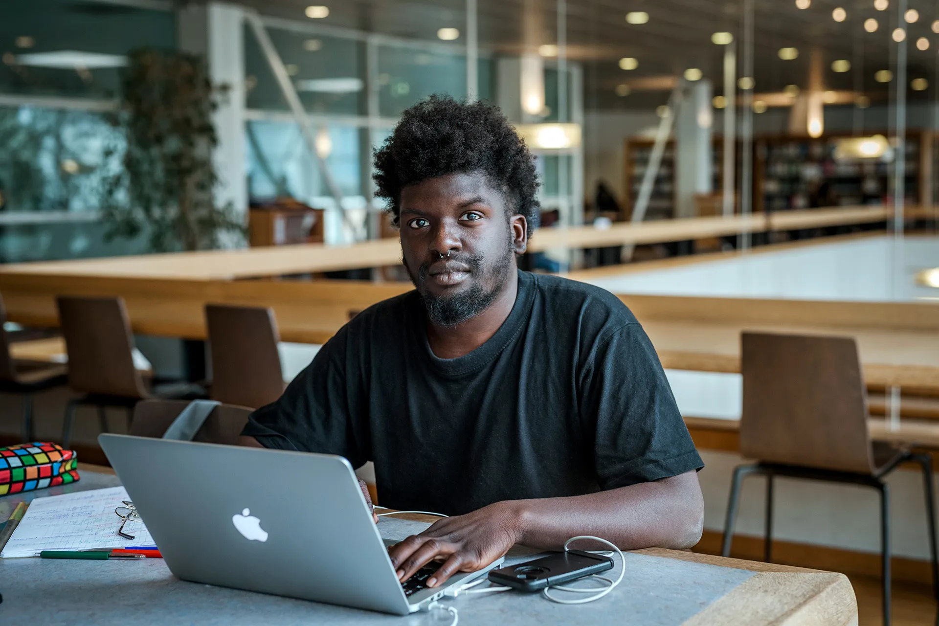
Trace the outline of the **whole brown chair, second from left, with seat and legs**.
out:
<instances>
[{"instance_id":1,"label":"whole brown chair, second from left, with seat and legs","mask_svg":"<svg viewBox=\"0 0 939 626\"><path fill-rule=\"evenodd\" d=\"M150 387L133 366L131 323L122 298L56 298L66 351L69 387L85 395L69 400L62 428L62 445L69 446L75 410L98 407L102 432L108 432L105 407L131 410L141 400L204 397L205 390L183 383Z\"/></svg>"}]
</instances>

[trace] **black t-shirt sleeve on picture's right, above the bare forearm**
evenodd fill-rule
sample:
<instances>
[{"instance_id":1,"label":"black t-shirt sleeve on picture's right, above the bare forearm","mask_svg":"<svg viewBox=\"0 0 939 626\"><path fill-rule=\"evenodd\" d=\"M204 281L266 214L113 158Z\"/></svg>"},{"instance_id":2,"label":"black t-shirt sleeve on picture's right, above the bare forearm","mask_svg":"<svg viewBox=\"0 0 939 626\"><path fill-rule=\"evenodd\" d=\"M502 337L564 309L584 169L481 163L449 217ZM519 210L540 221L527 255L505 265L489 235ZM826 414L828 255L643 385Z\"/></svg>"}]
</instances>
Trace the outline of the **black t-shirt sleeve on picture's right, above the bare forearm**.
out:
<instances>
[{"instance_id":1,"label":"black t-shirt sleeve on picture's right, above the bare forearm","mask_svg":"<svg viewBox=\"0 0 939 626\"><path fill-rule=\"evenodd\" d=\"M601 340L584 369L582 418L593 428L601 489L704 466L652 342L638 323Z\"/></svg>"}]
</instances>

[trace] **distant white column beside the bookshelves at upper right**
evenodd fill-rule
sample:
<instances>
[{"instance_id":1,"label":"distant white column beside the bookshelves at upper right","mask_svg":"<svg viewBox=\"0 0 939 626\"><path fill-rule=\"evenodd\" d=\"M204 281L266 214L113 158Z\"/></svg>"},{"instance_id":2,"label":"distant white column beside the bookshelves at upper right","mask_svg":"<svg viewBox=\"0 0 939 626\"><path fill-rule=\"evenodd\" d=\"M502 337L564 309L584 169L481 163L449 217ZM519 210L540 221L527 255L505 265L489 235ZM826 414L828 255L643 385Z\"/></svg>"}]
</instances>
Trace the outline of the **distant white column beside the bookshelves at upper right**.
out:
<instances>
[{"instance_id":1,"label":"distant white column beside the bookshelves at upper right","mask_svg":"<svg viewBox=\"0 0 939 626\"><path fill-rule=\"evenodd\" d=\"M684 100L675 120L676 218L695 217L695 194L712 191L711 83L688 84Z\"/></svg>"}]
</instances>

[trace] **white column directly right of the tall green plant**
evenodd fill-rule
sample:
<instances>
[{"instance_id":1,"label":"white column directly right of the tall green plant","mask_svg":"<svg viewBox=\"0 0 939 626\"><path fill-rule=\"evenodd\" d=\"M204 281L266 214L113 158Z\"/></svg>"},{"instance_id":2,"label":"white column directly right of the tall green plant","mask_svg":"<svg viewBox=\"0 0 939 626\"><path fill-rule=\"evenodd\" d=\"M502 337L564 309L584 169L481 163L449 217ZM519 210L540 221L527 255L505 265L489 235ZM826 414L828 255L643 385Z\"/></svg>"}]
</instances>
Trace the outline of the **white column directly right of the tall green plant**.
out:
<instances>
[{"instance_id":1,"label":"white column directly right of the tall green plant","mask_svg":"<svg viewBox=\"0 0 939 626\"><path fill-rule=\"evenodd\" d=\"M219 140L213 155L219 177L215 201L232 203L247 222L243 16L242 8L223 2L188 5L178 9L177 35L180 50L205 55L212 83L227 87L213 116Z\"/></svg>"}]
</instances>

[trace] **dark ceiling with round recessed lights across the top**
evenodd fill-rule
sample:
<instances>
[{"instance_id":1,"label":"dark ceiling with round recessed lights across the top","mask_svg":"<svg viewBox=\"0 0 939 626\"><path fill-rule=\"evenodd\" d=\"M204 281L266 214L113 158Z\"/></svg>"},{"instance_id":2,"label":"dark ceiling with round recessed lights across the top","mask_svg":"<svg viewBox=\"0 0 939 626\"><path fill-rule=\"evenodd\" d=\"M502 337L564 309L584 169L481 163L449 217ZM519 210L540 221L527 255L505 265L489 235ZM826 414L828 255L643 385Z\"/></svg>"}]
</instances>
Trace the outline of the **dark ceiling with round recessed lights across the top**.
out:
<instances>
[{"instance_id":1,"label":"dark ceiling with round recessed lights across the top","mask_svg":"<svg viewBox=\"0 0 939 626\"><path fill-rule=\"evenodd\" d=\"M437 29L454 26L465 37L465 0L253 0L264 13L305 20L303 9L312 2L326 4L330 23L405 38L436 38ZM939 35L931 31L939 19L935 0L908 0L919 20L908 24L908 80L926 78L927 91L910 91L911 99L930 98L937 78L936 50ZM557 2L554 0L478 0L480 46L494 53L536 51L540 44L557 43ZM834 8L844 8L847 19L832 19ZM626 23L628 11L645 11L649 22ZM742 38L743 0L567 0L568 56L582 63L585 105L589 109L642 108L664 103L665 92L634 90L626 97L616 85L640 77L680 75L699 68L721 93L723 47L711 42L717 31ZM879 23L875 33L864 30L864 21ZM784 85L808 84L812 51L821 55L825 89L861 89L871 99L887 99L888 84L874 81L879 69L894 69L897 45L890 34L897 26L897 0L878 11L873 0L811 0L808 9L794 0L754 0L754 77L756 91L778 91ZM929 38L930 47L916 49L917 38ZM781 60L777 51L794 47L798 57ZM618 60L632 56L639 67L625 71ZM742 58L742 56L741 56ZM831 63L847 59L852 69L836 73ZM743 75L742 68L738 75Z\"/></svg>"}]
</instances>

